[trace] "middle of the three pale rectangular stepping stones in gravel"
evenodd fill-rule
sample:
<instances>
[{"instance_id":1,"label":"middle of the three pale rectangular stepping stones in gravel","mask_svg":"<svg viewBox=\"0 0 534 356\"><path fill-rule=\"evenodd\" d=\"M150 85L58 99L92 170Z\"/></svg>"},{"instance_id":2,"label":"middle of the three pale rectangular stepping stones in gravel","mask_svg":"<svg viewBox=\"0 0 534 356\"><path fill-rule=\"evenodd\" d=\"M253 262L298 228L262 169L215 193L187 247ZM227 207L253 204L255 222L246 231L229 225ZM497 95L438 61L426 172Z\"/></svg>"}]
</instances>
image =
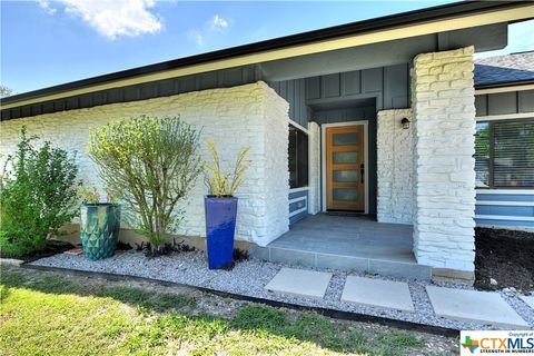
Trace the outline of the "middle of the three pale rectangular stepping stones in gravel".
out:
<instances>
[{"instance_id":1,"label":"middle of the three pale rectangular stepping stones in gravel","mask_svg":"<svg viewBox=\"0 0 534 356\"><path fill-rule=\"evenodd\" d=\"M343 289L342 301L415 312L408 284L403 281L348 276Z\"/></svg>"}]
</instances>

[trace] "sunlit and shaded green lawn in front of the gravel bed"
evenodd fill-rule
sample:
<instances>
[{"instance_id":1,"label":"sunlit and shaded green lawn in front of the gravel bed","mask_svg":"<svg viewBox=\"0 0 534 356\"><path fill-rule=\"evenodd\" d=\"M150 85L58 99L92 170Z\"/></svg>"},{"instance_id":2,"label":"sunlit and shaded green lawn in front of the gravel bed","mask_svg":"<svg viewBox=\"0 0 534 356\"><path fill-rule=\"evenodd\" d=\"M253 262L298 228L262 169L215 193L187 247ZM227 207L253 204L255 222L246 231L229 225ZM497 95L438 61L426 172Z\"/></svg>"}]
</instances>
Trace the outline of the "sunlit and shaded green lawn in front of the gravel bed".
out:
<instances>
[{"instance_id":1,"label":"sunlit and shaded green lawn in front of the gravel bed","mask_svg":"<svg viewBox=\"0 0 534 356\"><path fill-rule=\"evenodd\" d=\"M310 313L243 304L221 317L191 296L44 273L7 269L0 286L2 355L407 355L425 346Z\"/></svg>"}]
</instances>

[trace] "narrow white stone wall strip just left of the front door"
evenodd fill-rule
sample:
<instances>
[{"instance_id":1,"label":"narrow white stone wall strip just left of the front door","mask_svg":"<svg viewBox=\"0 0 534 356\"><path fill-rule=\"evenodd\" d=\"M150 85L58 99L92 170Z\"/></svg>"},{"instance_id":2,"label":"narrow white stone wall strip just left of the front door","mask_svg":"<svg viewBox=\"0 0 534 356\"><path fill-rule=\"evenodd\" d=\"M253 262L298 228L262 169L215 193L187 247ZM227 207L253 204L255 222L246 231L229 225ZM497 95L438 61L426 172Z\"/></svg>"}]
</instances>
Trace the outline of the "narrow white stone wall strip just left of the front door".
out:
<instances>
[{"instance_id":1,"label":"narrow white stone wall strip just left of the front door","mask_svg":"<svg viewBox=\"0 0 534 356\"><path fill-rule=\"evenodd\" d=\"M308 122L308 214L320 211L320 127Z\"/></svg>"}]
</instances>

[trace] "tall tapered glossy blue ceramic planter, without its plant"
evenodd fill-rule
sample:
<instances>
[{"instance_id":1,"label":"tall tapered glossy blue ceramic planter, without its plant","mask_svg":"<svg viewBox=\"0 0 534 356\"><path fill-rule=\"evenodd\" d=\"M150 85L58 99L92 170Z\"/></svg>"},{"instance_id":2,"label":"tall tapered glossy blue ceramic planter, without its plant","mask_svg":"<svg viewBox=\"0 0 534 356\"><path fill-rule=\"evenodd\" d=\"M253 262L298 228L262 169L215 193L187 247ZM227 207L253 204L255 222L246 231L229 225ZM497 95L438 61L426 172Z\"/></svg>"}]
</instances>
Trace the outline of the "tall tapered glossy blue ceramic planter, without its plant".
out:
<instances>
[{"instance_id":1,"label":"tall tapered glossy blue ceramic planter, without its plant","mask_svg":"<svg viewBox=\"0 0 534 356\"><path fill-rule=\"evenodd\" d=\"M206 197L206 236L209 269L228 268L234 264L237 198Z\"/></svg>"}]
</instances>

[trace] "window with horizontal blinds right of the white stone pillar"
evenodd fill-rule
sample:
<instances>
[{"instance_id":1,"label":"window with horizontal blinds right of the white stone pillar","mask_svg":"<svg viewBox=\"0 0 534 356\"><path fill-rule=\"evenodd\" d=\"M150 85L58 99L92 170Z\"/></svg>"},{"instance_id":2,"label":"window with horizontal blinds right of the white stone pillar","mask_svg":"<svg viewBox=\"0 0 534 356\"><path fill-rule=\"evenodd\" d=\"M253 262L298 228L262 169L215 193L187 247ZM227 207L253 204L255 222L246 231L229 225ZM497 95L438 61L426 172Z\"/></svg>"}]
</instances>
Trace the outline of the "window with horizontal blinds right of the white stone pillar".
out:
<instances>
[{"instance_id":1,"label":"window with horizontal blinds right of the white stone pillar","mask_svg":"<svg viewBox=\"0 0 534 356\"><path fill-rule=\"evenodd\" d=\"M533 188L534 120L478 122L474 157L477 188Z\"/></svg>"}]
</instances>

